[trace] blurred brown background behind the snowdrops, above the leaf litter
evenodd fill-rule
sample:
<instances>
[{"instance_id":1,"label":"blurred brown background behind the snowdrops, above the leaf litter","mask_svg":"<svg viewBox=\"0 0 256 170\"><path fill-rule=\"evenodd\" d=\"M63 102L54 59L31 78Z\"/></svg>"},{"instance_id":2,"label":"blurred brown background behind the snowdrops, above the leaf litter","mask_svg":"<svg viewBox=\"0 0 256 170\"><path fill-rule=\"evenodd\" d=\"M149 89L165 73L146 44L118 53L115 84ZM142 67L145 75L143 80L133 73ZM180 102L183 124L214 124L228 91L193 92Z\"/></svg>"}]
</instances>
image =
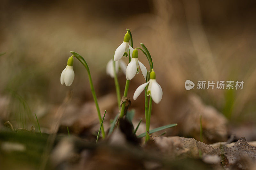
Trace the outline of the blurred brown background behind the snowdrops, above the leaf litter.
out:
<instances>
[{"instance_id":1,"label":"blurred brown background behind the snowdrops, above the leaf litter","mask_svg":"<svg viewBox=\"0 0 256 170\"><path fill-rule=\"evenodd\" d=\"M189 103L189 96L199 96L204 106L210 105L225 115L228 124L253 125L256 122L255 17L255 1L1 0L0 53L6 53L0 56L1 124L9 120L17 122L17 127L35 125L34 113L39 119L51 114L52 108L58 107L70 90L73 94L68 105L81 106L92 101L87 74L76 59L73 84L60 85L60 73L69 51L76 51L87 61L98 98L109 93L115 95L114 80L106 75L105 67L129 28L134 48L142 42L151 53L156 79L163 89L162 101L153 104L153 125L186 122L187 114L197 112L190 107L188 112L184 111L187 105L196 105ZM139 59L149 69L141 52ZM118 79L123 94L125 76L119 73ZM186 91L187 79L194 83L243 80L244 87ZM130 82L128 96L132 97L142 83L140 73ZM136 109L136 119L144 117L143 96L136 102L132 100L130 108ZM116 113L117 105L109 111L108 119L113 119ZM197 128L197 118L187 122ZM174 134L190 132L184 133L178 126ZM192 133L188 136L194 137Z\"/></svg>"}]
</instances>

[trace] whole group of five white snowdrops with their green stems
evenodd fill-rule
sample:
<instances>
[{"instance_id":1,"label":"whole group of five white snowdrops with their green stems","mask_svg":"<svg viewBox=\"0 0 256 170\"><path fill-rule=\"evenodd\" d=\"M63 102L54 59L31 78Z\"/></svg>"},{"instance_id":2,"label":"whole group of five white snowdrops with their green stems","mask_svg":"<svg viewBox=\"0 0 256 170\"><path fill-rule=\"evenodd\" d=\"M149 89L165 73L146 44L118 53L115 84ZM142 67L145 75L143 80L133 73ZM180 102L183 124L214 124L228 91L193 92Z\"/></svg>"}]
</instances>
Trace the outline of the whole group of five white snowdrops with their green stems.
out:
<instances>
[{"instance_id":1,"label":"whole group of five white snowdrops with their green stems","mask_svg":"<svg viewBox=\"0 0 256 170\"><path fill-rule=\"evenodd\" d=\"M145 78L146 82L144 84L140 85L135 90L134 95L133 95L133 100L136 100L138 98L138 96L141 94L141 92L145 89L145 121L146 121L146 133L145 133L146 139L145 139L145 141L147 142L149 140L149 127L150 127L150 116L151 116L151 110L152 110L152 100L155 103L159 103L162 99L163 91L162 91L161 86L156 82L156 73L153 70L153 62L152 62L151 55L144 44L140 43L140 45L142 48L137 47L137 48L133 49L132 34L131 34L131 31L129 29L127 29L127 33L125 33L125 35L124 35L123 43L116 49L114 58L112 58L107 63L106 72L110 77L115 79L117 100L118 100L118 106L119 106L118 116L119 116L119 118L123 118L126 100L121 100L120 88L119 88L119 83L118 83L116 74L119 70L122 70L127 79L126 84L125 84L124 95L123 95L123 99L124 99L127 97L130 80L132 80L132 78L134 78L136 74L139 74L139 72L141 70L142 75ZM145 56L148 59L148 63L150 66L149 71L147 70L145 65L138 60L138 54L139 54L138 50L139 49L145 54ZM62 85L65 84L66 86L70 86L72 84L72 82L75 78L75 73L73 70L73 62L74 62L73 57L76 57L84 65L85 69L87 70L88 77L89 77L89 83L90 83L91 91L92 91L92 96L93 96L95 106L98 111L99 121L101 124L99 133L101 131L102 138L105 138L105 131L104 131L104 127L102 125L103 120L100 115L98 100L97 100L97 97L96 97L96 94L94 91L94 87L92 84L92 78L91 78L89 67L81 55L79 55L73 51L70 51L70 53L72 54L72 56L70 56L68 58L67 66L61 73L60 83ZM129 64L126 65L126 63L122 60L122 58L128 58ZM121 101L123 101L123 102L121 103ZM105 116L105 114L104 114L104 116ZM104 116L103 116L103 119L104 119Z\"/></svg>"}]
</instances>

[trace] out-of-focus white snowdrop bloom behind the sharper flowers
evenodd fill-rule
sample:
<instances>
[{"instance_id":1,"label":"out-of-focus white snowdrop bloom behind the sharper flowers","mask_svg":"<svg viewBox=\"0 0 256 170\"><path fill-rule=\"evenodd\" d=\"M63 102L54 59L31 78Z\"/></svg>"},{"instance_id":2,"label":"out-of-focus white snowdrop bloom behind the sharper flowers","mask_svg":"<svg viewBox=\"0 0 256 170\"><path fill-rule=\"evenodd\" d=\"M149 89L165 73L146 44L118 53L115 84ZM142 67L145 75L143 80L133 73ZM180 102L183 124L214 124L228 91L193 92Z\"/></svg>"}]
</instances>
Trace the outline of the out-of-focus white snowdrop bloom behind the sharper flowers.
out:
<instances>
[{"instance_id":1,"label":"out-of-focus white snowdrop bloom behind the sharper flowers","mask_svg":"<svg viewBox=\"0 0 256 170\"><path fill-rule=\"evenodd\" d=\"M119 69L121 69L123 71L123 73L125 74L126 67L127 67L127 65L124 63L123 60L118 60L115 63L115 71L116 71L116 73L118 73ZM109 75L112 78L115 77L114 59L113 58L107 63L106 73L107 73L107 75Z\"/></svg>"}]
</instances>

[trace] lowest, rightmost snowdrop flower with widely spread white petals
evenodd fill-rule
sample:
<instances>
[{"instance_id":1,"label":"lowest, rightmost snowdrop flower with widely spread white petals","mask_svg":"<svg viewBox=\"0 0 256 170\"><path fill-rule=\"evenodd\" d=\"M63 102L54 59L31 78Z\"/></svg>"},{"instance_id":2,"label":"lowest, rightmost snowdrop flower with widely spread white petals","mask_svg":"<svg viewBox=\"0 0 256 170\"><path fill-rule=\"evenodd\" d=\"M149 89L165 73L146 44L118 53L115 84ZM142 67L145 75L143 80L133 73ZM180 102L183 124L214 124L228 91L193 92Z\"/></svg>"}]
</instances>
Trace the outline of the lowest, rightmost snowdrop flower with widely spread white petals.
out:
<instances>
[{"instance_id":1,"label":"lowest, rightmost snowdrop flower with widely spread white petals","mask_svg":"<svg viewBox=\"0 0 256 170\"><path fill-rule=\"evenodd\" d=\"M133 100L136 100L138 98L140 93L146 88L147 85L147 95L150 95L155 103L159 103L162 99L163 91L160 85L156 82L156 73L153 69L150 72L150 80L147 83L140 85L134 92Z\"/></svg>"}]
</instances>

